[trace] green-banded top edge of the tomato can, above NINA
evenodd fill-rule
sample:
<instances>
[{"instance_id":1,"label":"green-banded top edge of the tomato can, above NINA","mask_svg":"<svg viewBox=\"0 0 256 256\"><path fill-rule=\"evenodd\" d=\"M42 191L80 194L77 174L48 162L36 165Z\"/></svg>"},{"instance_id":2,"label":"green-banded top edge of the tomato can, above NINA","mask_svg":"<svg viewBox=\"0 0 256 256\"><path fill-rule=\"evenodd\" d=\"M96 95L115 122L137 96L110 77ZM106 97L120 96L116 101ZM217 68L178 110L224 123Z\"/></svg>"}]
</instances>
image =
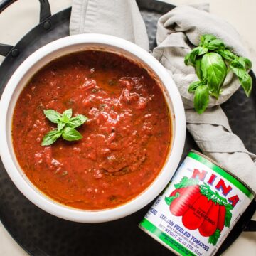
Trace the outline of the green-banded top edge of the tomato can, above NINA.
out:
<instances>
[{"instance_id":1,"label":"green-banded top edge of the tomato can, above NINA","mask_svg":"<svg viewBox=\"0 0 256 256\"><path fill-rule=\"evenodd\" d=\"M230 181L230 183L233 183L234 186L240 189L240 191L242 191L242 193L244 193L251 200L255 198L255 193L244 182L242 182L240 178L238 178L234 174L231 174L230 171L227 171L225 168L210 159L208 156L205 156L198 151L191 150L188 153L188 157L200 161L202 164L205 164L210 169L213 169L213 171L226 178L228 181Z\"/></svg>"}]
</instances>

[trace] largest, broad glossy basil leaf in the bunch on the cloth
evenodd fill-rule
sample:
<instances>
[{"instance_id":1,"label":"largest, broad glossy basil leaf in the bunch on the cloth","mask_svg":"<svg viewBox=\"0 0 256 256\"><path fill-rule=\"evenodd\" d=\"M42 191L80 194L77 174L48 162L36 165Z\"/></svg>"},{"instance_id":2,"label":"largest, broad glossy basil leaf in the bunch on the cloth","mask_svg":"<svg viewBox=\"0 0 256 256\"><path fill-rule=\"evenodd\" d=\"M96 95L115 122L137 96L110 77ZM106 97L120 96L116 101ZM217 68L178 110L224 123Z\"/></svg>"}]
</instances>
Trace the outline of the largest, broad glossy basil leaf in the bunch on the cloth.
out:
<instances>
[{"instance_id":1,"label":"largest, broad glossy basil leaf in the bunch on the cloth","mask_svg":"<svg viewBox=\"0 0 256 256\"><path fill-rule=\"evenodd\" d=\"M218 53L206 53L201 60L203 77L207 79L210 92L218 98L227 75L227 66Z\"/></svg>"}]
</instances>

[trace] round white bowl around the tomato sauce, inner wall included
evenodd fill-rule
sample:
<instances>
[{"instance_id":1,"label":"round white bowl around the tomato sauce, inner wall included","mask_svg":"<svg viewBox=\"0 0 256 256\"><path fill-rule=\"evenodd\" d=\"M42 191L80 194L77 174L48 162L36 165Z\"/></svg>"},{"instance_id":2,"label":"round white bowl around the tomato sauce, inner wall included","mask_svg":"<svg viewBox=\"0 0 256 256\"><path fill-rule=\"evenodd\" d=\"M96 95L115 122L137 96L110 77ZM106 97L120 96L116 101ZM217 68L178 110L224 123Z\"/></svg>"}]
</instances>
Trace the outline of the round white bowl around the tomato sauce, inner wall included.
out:
<instances>
[{"instance_id":1,"label":"round white bowl around the tomato sauce, inner wall included","mask_svg":"<svg viewBox=\"0 0 256 256\"><path fill-rule=\"evenodd\" d=\"M145 191L132 201L107 210L79 210L64 206L50 199L28 180L23 170L18 165L11 140L11 122L16 101L21 90L23 90L23 87L33 74L49 63L50 60L79 50L92 49L107 50L124 55L127 58L141 63L152 75L155 75L156 79L161 83L160 86L171 112L172 122L173 137L171 148L166 163L159 175ZM136 46L134 43L114 36L100 34L68 36L43 46L29 56L19 66L14 75L12 75L1 96L0 110L0 154L1 160L11 180L21 193L36 206L60 218L80 223L100 223L116 220L146 206L147 203L161 193L174 175L174 171L176 171L181 159L186 137L186 120L183 103L174 80L172 80L165 68L145 50Z\"/></svg>"}]
</instances>

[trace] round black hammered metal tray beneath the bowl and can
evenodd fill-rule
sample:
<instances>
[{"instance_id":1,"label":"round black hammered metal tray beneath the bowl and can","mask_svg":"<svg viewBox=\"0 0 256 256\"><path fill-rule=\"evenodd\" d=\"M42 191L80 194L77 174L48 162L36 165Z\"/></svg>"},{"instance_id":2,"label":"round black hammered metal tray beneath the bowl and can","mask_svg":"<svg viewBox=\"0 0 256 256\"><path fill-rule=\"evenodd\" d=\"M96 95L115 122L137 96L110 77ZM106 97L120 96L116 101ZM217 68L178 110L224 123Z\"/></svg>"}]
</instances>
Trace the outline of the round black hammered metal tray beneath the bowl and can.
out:
<instances>
[{"instance_id":1,"label":"round black hammered metal tray beneath the bowl and can","mask_svg":"<svg viewBox=\"0 0 256 256\"><path fill-rule=\"evenodd\" d=\"M3 0L0 12L15 0ZM158 18L175 6L155 0L138 0L139 9L146 23L150 48L156 46ZM14 70L35 50L50 41L68 36L71 9L51 16L47 0L40 0L40 23L16 46L0 44L0 55L6 56L0 66L0 94ZM245 143L247 149L256 152L256 78L252 96L245 97L242 90L223 105L230 126ZM183 157L190 149L198 149L187 134ZM149 210L151 203L137 213L110 223L81 224L62 220L36 207L18 191L0 162L0 219L12 237L33 256L80 256L80 255L172 255L172 252L138 228L138 223ZM253 201L218 250L224 252L238 238L242 230L255 231L250 219L255 212Z\"/></svg>"}]
</instances>

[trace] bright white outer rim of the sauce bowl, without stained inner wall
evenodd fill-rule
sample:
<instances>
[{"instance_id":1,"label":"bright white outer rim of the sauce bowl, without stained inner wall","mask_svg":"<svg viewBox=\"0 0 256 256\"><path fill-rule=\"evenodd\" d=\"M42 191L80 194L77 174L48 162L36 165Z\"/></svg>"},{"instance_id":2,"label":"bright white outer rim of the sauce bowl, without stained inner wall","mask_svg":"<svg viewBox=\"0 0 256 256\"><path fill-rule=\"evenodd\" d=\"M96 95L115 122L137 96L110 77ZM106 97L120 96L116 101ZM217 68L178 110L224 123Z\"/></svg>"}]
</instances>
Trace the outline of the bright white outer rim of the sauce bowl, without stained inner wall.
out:
<instances>
[{"instance_id":1,"label":"bright white outer rim of the sauce bowl, without stained inner wall","mask_svg":"<svg viewBox=\"0 0 256 256\"><path fill-rule=\"evenodd\" d=\"M23 178L23 175L14 164L14 161L11 157L11 152L9 151L8 144L8 131L7 127L7 114L9 111L9 105L11 102L11 97L18 86L18 82L23 78L24 75L36 64L39 60L44 58L50 53L54 53L56 50L61 48L66 48L70 46L75 46L78 44L86 43L95 43L105 46L114 46L121 50L131 53L132 55L137 56L142 62L146 63L156 75L161 80L161 83L164 85L166 90L169 92L171 98L171 104L173 107L175 122L173 129L175 130L175 136L173 136L173 144L171 147L171 154L168 156L168 161L164 168L161 171L151 185L142 191L139 196L127 201L127 203L117 206L115 208L110 208L106 210L80 210L75 208L70 208L60 203L55 203L51 198L46 198L38 193L36 189L28 184L28 182ZM168 85L168 86L166 86ZM171 177L174 175L174 171L178 166L178 163L181 159L183 152L183 147L185 144L186 137L186 118L183 103L181 100L181 95L178 92L178 88L175 85L174 80L171 78L169 73L166 71L164 66L159 63L156 58L151 54L146 52L146 50L140 48L139 46L126 41L122 38L117 38L115 36L107 36L102 34L81 34L75 36L67 36L65 38L60 38L56 41L48 43L46 46L39 48L36 52L32 53L23 63L18 67L18 69L11 76L9 82L4 89L3 94L1 95L0 101L0 155L1 160L3 161L4 167L9 174L11 180L14 182L16 187L23 193L28 200L34 203L39 208L45 210L46 212L55 215L59 218L65 220L72 220L79 223L102 223L110 220L116 220L118 218L123 218L129 214L136 212L137 210L146 206L150 203L156 196L161 193L164 187L169 183Z\"/></svg>"}]
</instances>

